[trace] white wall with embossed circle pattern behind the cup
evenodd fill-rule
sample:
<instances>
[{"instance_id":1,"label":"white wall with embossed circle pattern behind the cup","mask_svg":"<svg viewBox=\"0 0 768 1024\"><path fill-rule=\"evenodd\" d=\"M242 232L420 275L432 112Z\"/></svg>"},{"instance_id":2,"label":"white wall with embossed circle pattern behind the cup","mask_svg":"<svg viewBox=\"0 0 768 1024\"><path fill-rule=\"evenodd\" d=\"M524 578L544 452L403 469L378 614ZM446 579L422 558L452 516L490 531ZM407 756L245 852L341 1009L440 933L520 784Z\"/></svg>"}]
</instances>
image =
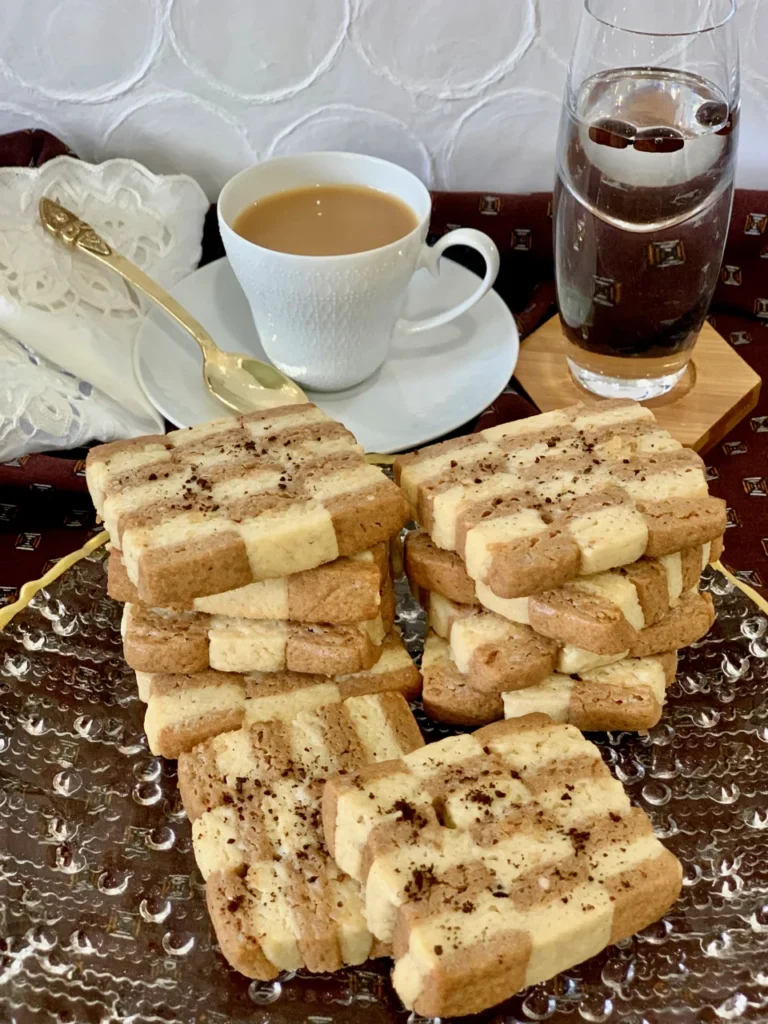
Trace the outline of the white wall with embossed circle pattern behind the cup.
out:
<instances>
[{"instance_id":1,"label":"white wall with embossed circle pattern behind the cup","mask_svg":"<svg viewBox=\"0 0 768 1024\"><path fill-rule=\"evenodd\" d=\"M211 197L248 163L309 148L388 157L438 188L549 188L581 5L0 0L0 130L186 171ZM737 16L739 183L766 187L768 0Z\"/></svg>"}]
</instances>

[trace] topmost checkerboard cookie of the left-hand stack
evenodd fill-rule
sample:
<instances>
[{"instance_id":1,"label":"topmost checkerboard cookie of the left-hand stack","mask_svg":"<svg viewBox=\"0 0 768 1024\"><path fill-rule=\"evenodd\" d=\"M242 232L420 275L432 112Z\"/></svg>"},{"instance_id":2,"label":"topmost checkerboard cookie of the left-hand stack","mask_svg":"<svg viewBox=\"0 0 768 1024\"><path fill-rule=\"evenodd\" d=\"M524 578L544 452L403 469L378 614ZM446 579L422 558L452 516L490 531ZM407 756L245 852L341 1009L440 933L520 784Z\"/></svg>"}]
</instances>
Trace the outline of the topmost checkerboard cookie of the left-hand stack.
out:
<instances>
[{"instance_id":1,"label":"topmost checkerboard cookie of the left-hand stack","mask_svg":"<svg viewBox=\"0 0 768 1024\"><path fill-rule=\"evenodd\" d=\"M409 518L352 434L311 404L101 444L86 476L130 582L154 607L356 554Z\"/></svg>"}]
</instances>

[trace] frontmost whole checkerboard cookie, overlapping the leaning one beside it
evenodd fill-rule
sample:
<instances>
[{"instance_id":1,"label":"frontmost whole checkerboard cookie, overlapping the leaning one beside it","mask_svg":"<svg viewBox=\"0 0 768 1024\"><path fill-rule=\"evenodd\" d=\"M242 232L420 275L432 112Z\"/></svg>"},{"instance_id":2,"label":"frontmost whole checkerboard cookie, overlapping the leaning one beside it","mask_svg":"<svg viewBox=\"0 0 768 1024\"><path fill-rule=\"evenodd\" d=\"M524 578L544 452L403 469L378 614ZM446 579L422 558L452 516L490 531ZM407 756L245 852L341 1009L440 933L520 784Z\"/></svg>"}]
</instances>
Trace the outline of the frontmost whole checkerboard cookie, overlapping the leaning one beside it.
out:
<instances>
[{"instance_id":1,"label":"frontmost whole checkerboard cookie, overlapping the leaning one beside it","mask_svg":"<svg viewBox=\"0 0 768 1024\"><path fill-rule=\"evenodd\" d=\"M682 871L596 746L544 715L335 776L326 841L425 1017L478 1013L660 918Z\"/></svg>"}]
</instances>

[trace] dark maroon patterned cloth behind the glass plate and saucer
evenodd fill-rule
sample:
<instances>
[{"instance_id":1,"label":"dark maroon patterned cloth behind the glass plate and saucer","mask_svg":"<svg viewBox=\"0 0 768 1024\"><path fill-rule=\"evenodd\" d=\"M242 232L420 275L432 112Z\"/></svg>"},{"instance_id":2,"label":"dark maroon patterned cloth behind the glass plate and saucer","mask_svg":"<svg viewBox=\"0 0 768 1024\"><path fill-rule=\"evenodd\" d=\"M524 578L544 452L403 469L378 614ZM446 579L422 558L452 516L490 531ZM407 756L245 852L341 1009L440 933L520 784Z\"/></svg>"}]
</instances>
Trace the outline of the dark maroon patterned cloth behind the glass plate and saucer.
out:
<instances>
[{"instance_id":1,"label":"dark maroon patterned cloth behind the glass plate and saucer","mask_svg":"<svg viewBox=\"0 0 768 1024\"><path fill-rule=\"evenodd\" d=\"M43 131L0 136L0 165L39 166L70 152ZM436 193L432 233L477 227L502 253L497 290L524 337L555 312L552 269L552 197ZM223 255L215 210L206 219L203 263ZM475 254L452 256L481 271ZM711 322L763 376L768 371L768 191L739 190L733 206L721 280ZM514 381L476 424L503 423L536 412ZM34 455L0 466L0 604L41 575L95 530L82 475L84 453ZM707 455L714 494L728 504L726 565L768 596L768 393L749 419Z\"/></svg>"}]
</instances>

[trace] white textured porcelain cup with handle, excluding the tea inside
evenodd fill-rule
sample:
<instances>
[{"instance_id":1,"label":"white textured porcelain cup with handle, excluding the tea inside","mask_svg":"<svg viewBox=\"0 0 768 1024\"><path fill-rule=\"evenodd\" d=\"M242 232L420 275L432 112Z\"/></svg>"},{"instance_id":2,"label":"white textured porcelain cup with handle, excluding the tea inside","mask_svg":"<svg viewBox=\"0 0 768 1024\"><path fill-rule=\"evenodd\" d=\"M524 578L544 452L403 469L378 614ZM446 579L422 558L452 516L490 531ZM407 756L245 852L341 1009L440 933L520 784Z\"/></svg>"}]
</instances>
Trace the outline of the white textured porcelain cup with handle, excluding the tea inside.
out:
<instances>
[{"instance_id":1,"label":"white textured porcelain cup with handle, excluding the tea inside","mask_svg":"<svg viewBox=\"0 0 768 1024\"><path fill-rule=\"evenodd\" d=\"M315 184L369 185L389 193L411 207L418 224L390 245L344 256L276 252L233 229L238 215L257 200ZM482 298L499 272L498 249L469 227L427 246L431 207L429 191L410 171L355 153L278 157L241 171L224 185L218 201L221 238L261 345L275 367L318 391L348 388L386 359L395 329L428 331ZM458 245L476 249L485 260L485 276L474 293L436 316L400 319L414 272L426 267L436 275L443 250Z\"/></svg>"}]
</instances>

